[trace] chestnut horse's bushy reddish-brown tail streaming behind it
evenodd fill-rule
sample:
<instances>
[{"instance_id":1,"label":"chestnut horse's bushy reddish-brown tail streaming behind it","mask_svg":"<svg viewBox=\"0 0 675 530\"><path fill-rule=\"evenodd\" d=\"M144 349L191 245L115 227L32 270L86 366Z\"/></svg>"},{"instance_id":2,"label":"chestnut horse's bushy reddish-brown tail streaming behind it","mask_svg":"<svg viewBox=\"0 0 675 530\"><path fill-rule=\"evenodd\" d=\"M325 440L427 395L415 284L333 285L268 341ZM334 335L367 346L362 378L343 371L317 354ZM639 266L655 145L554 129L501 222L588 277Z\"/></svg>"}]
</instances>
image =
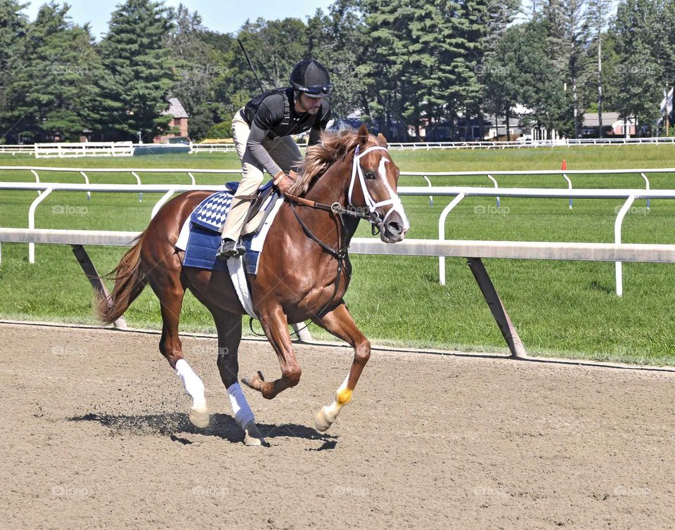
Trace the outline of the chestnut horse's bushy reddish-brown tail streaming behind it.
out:
<instances>
[{"instance_id":1,"label":"chestnut horse's bushy reddish-brown tail streaming behind it","mask_svg":"<svg viewBox=\"0 0 675 530\"><path fill-rule=\"evenodd\" d=\"M136 244L122 256L120 263L103 276L114 279L115 287L110 296L98 295L96 314L103 323L110 324L120 318L148 284L146 270L141 262L141 248L145 232L136 238Z\"/></svg>"}]
</instances>

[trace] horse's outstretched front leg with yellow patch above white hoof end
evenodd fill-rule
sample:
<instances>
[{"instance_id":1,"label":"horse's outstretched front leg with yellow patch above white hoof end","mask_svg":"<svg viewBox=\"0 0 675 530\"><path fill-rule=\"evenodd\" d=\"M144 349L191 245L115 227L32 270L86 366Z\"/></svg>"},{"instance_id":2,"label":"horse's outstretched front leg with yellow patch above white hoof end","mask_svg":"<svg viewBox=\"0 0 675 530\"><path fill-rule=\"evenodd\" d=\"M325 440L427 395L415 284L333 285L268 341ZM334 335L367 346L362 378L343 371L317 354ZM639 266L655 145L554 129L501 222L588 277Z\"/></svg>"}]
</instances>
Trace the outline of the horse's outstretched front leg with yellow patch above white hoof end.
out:
<instances>
[{"instance_id":1,"label":"horse's outstretched front leg with yellow patch above white hoof end","mask_svg":"<svg viewBox=\"0 0 675 530\"><path fill-rule=\"evenodd\" d=\"M349 373L342 382L337 392L335 392L335 399L333 403L328 406L323 406L319 412L314 416L314 426L317 430L324 432L328 430L330 425L338 418L340 409L352 401L352 393L356 387L356 382L361 377L361 372L364 370L368 358L371 356L371 343L368 342L361 330L356 327L356 323L349 314L349 310L344 303L330 311L322 318L313 318L312 321L321 328L335 335L339 339L351 344L354 348L354 360L352 366L349 368Z\"/></svg>"}]
</instances>

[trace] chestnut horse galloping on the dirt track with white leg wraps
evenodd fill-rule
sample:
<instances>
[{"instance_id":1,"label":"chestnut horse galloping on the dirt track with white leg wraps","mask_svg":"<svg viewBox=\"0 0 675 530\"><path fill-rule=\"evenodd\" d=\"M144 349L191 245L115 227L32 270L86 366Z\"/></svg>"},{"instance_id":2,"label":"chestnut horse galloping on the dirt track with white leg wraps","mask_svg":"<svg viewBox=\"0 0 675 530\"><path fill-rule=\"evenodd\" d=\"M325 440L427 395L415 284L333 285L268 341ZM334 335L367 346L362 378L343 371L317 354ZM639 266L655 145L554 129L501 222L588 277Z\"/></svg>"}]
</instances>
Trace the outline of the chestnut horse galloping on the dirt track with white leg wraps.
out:
<instances>
[{"instance_id":1,"label":"chestnut horse galloping on the dirt track with white leg wraps","mask_svg":"<svg viewBox=\"0 0 675 530\"><path fill-rule=\"evenodd\" d=\"M300 365L288 324L311 319L354 348L352 366L333 403L314 418L316 428L325 431L352 399L371 351L342 300L352 271L349 240L360 219L371 221L373 233L378 228L385 243L402 240L410 225L395 191L399 169L387 151L387 142L382 135L368 134L365 125L358 132L324 134L322 143L308 148L302 169L269 229L257 275L248 276L253 310L276 351L281 378L266 381L257 372L242 382L266 399L295 387ZM264 439L238 384L245 309L227 272L184 267L184 252L174 246L184 221L210 193L183 193L160 209L110 273L115 287L108 299L99 301L98 314L105 323L115 321L150 284L162 311L160 351L193 399L190 420L206 427L209 409L204 384L184 360L178 335L183 297L190 289L213 315L218 332L217 366L235 420L243 429L244 443L260 445Z\"/></svg>"}]
</instances>

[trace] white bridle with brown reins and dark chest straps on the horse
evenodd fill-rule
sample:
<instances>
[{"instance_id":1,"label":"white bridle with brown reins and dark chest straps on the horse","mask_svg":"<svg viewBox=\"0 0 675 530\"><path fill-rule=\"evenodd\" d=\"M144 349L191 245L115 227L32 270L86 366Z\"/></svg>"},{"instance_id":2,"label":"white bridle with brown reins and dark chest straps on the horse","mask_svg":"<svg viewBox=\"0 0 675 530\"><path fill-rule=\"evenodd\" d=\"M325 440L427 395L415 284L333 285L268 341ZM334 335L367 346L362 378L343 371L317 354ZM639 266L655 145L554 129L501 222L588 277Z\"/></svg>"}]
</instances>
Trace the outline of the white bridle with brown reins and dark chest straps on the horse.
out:
<instances>
[{"instance_id":1,"label":"white bridle with brown reins and dark chest straps on the horse","mask_svg":"<svg viewBox=\"0 0 675 530\"><path fill-rule=\"evenodd\" d=\"M328 302L321 308L321 311L319 311L319 313L316 314L316 318L321 318L325 314L324 311L326 311L330 307L330 305L333 304L333 302L335 301L335 296L338 295L338 290L340 288L340 276L342 276L342 269L345 268L344 265L345 260L347 259L347 250L349 248L349 245L347 245L347 242L345 241L346 230L345 230L344 216L352 216L356 217L357 219L367 219L371 223L373 235L376 235L379 232L380 227L384 226L385 221L387 221L387 217L389 217L389 215L394 211L394 209L396 209L399 205L401 205L401 200L395 194L393 197L387 200L375 202L370 192L368 192L368 188L366 188L364 169L361 167L360 160L362 157L366 156L368 153L371 153L372 151L375 150L386 151L387 148L380 146L372 146L364 149L363 152L359 152L360 146L357 145L356 149L354 150L354 160L352 162L352 180L349 182L349 192L347 193L347 208L342 207L340 202L333 202L332 205L327 205L323 202L307 200L302 197L297 197L296 195L289 195L289 194L284 195L284 199L290 202L290 208L293 210L293 214L295 214L295 219L297 219L297 222L302 227L302 231L304 231L305 235L307 235L307 237L313 240L314 242L318 243L319 246L323 248L323 250L326 250L328 254L330 254L331 256L335 257L335 259L338 260L338 275L335 278L335 288L333 289L333 295L330 297ZM361 184L361 191L364 194L366 208L368 209L367 213L361 211L363 207L356 207L352 203L352 193L354 191L354 184L356 183L357 177L359 183ZM321 241L319 238L316 237L316 235L314 235L314 233L312 233L309 227L306 224L304 224L304 221L302 221L300 216L297 214L295 205L309 206L310 208L314 209L322 209L325 210L326 212L330 212L333 216L338 217L340 223L340 241L338 241L337 250L329 247L328 245L326 245L326 243L323 243L323 241ZM392 207L383 217L380 214L380 212L377 211L377 209L379 207L387 205L392 205ZM347 272L347 274L351 276L351 273ZM307 328L307 326L305 326L305 328ZM300 331L301 330L297 330L296 333L299 333Z\"/></svg>"}]
</instances>

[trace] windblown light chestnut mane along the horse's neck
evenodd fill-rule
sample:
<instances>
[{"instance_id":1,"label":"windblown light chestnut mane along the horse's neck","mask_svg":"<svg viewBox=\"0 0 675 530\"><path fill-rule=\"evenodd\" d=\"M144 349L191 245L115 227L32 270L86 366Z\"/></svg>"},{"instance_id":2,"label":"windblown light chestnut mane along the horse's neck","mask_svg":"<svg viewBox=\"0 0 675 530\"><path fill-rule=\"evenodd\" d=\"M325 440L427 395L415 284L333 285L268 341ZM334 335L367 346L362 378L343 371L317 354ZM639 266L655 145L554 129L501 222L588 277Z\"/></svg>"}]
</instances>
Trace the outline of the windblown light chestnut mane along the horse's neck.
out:
<instances>
[{"instance_id":1,"label":"windblown light chestnut mane along the horse's neck","mask_svg":"<svg viewBox=\"0 0 675 530\"><path fill-rule=\"evenodd\" d=\"M357 143L359 143L359 131L354 129L344 129L338 132L324 131L321 134L321 142L307 148L304 164L300 168L300 176L290 187L288 193L296 196L307 193L314 178L326 173L336 160L354 150Z\"/></svg>"}]
</instances>

